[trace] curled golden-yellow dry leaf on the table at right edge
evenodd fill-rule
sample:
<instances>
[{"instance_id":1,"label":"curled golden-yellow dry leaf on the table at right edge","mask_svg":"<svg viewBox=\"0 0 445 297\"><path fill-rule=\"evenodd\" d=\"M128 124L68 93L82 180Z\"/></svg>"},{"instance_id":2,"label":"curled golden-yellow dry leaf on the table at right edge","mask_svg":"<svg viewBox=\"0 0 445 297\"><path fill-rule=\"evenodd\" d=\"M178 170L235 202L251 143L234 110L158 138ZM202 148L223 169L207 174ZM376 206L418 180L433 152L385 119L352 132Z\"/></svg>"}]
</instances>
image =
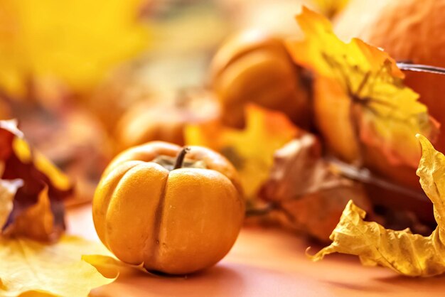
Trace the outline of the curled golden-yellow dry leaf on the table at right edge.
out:
<instances>
[{"instance_id":1,"label":"curled golden-yellow dry leaf on the table at right edge","mask_svg":"<svg viewBox=\"0 0 445 297\"><path fill-rule=\"evenodd\" d=\"M334 252L354 254L365 265L382 265L407 276L434 276L445 272L445 156L427 138L418 135L422 158L417 169L420 184L434 205L437 227L429 237L409 229L394 231L365 222L366 212L352 200L333 230L331 245L311 256L313 261Z\"/></svg>"}]
</instances>

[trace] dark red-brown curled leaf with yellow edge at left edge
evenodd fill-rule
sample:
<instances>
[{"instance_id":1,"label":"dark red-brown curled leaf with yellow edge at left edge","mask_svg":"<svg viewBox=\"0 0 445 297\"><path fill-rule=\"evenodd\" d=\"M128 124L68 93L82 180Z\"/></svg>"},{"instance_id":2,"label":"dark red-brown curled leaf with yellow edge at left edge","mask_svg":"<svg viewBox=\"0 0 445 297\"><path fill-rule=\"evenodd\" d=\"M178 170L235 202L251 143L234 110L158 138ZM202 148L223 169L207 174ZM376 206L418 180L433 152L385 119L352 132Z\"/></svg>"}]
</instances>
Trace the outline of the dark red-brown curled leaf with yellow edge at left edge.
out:
<instances>
[{"instance_id":1,"label":"dark red-brown curled leaf with yellow edge at left edge","mask_svg":"<svg viewBox=\"0 0 445 297\"><path fill-rule=\"evenodd\" d=\"M16 186L4 234L38 240L56 239L65 229L63 200L73 193L70 180L23 139L16 121L0 121L2 180L21 180ZM33 227L29 227L33 226Z\"/></svg>"}]
</instances>

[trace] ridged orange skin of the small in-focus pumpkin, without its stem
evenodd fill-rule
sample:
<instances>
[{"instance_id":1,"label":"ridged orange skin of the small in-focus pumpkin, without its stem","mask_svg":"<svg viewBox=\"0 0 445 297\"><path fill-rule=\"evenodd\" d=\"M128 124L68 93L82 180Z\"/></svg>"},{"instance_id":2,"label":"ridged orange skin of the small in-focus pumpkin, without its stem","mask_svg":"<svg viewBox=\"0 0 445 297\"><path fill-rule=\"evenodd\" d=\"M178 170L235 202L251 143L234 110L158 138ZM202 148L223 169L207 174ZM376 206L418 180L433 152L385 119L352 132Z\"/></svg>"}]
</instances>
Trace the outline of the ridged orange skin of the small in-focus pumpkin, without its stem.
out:
<instances>
[{"instance_id":1,"label":"ridged orange skin of the small in-focus pumpkin, without its stem","mask_svg":"<svg viewBox=\"0 0 445 297\"><path fill-rule=\"evenodd\" d=\"M198 146L190 147L186 160L205 168L169 171L154 162L175 158L181 149L150 142L122 152L104 171L93 220L102 242L122 261L189 274L216 264L235 243L245 212L235 168Z\"/></svg>"}]
</instances>

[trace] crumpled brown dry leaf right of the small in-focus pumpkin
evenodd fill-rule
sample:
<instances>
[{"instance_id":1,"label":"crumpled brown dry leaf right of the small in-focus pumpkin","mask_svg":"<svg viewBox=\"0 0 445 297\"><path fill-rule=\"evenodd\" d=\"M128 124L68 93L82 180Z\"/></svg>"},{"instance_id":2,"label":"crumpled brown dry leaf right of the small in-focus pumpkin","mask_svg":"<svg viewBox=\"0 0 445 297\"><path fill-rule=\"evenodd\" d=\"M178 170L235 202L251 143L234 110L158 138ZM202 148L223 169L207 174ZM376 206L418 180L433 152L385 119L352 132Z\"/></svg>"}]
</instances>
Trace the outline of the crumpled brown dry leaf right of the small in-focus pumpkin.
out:
<instances>
[{"instance_id":1,"label":"crumpled brown dry leaf right of the small in-focus pumpkin","mask_svg":"<svg viewBox=\"0 0 445 297\"><path fill-rule=\"evenodd\" d=\"M284 224L327 242L350 197L370 210L360 183L344 178L321 156L316 137L304 134L274 155L261 197L281 211Z\"/></svg>"}]
</instances>

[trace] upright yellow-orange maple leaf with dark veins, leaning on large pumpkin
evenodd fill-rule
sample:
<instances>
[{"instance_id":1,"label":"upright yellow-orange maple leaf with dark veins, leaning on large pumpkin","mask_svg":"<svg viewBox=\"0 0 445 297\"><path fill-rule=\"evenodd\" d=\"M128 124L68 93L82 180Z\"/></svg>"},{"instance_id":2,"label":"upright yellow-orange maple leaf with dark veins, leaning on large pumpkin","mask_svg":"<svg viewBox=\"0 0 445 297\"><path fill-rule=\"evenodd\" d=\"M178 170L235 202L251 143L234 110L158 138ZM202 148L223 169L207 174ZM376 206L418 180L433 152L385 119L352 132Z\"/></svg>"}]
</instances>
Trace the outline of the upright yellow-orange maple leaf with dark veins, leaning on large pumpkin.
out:
<instances>
[{"instance_id":1,"label":"upright yellow-orange maple leaf with dark veins, leaning on large pumpkin","mask_svg":"<svg viewBox=\"0 0 445 297\"><path fill-rule=\"evenodd\" d=\"M404 75L395 61L360 39L343 43L328 19L309 9L303 8L296 19L305 39L289 40L289 52L296 63L314 72L316 96L322 93L325 98L321 108L342 109L327 111L332 118L318 121L328 145L334 151L348 151L343 155L362 158L363 141L380 149L392 164L415 168L420 158L415 135L434 139L438 129L419 95L403 85ZM338 141L341 135L348 143Z\"/></svg>"}]
</instances>

